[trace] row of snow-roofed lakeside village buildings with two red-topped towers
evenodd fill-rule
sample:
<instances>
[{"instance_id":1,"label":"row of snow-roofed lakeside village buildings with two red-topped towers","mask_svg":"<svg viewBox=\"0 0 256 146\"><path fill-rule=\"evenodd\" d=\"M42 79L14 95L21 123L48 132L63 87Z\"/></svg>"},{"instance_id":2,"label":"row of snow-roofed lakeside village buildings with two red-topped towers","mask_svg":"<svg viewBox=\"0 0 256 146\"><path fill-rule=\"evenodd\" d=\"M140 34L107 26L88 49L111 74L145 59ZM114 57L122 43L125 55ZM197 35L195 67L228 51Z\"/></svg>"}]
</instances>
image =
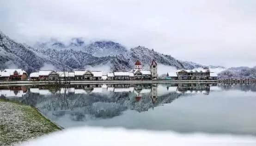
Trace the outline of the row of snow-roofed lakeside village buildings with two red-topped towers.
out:
<instances>
[{"instance_id":1,"label":"row of snow-roofed lakeside village buildings with two red-topped towers","mask_svg":"<svg viewBox=\"0 0 256 146\"><path fill-rule=\"evenodd\" d=\"M210 72L209 68L202 70L180 69L176 72L167 72L165 80L217 80L216 73ZM149 70L143 69L139 60L134 63L134 69L123 72L104 74L103 71L74 70L54 71L40 70L28 73L23 69L5 69L0 71L0 81L99 81L99 80L158 80L158 65L152 60Z\"/></svg>"}]
</instances>

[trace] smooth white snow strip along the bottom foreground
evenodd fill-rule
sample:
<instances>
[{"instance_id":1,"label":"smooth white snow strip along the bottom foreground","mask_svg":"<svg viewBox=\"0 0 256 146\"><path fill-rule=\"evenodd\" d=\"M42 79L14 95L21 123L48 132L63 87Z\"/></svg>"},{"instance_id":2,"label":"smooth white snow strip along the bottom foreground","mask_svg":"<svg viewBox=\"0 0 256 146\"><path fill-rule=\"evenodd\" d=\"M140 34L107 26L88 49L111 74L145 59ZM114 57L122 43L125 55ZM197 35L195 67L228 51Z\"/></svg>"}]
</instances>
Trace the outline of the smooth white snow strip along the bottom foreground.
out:
<instances>
[{"instance_id":1,"label":"smooth white snow strip along the bottom foreground","mask_svg":"<svg viewBox=\"0 0 256 146\"><path fill-rule=\"evenodd\" d=\"M121 128L67 129L20 146L253 146L252 136L178 134Z\"/></svg>"}]
</instances>

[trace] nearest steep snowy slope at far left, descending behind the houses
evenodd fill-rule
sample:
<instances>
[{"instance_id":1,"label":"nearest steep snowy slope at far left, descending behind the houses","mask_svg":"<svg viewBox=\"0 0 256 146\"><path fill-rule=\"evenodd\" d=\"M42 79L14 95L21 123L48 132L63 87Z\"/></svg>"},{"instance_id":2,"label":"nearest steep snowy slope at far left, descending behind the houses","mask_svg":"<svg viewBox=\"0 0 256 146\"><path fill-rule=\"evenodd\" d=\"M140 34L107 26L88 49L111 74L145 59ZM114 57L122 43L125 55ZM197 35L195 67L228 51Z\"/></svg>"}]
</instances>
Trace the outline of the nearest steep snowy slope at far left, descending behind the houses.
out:
<instances>
[{"instance_id":1,"label":"nearest steep snowy slope at far left, descending behind the houses","mask_svg":"<svg viewBox=\"0 0 256 146\"><path fill-rule=\"evenodd\" d=\"M0 32L0 69L23 68L28 73L39 70L46 64L61 67L61 63L44 56L27 45L17 43Z\"/></svg>"}]
</instances>

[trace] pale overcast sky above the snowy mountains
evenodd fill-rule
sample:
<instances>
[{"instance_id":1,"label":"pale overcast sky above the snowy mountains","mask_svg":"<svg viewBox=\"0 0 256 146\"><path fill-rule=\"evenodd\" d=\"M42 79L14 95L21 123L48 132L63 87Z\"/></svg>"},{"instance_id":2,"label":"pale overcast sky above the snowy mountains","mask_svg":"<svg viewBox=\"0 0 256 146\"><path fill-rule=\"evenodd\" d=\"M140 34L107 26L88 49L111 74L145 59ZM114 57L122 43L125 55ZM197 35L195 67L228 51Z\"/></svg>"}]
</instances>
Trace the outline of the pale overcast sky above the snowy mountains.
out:
<instances>
[{"instance_id":1,"label":"pale overcast sky above the snowy mountains","mask_svg":"<svg viewBox=\"0 0 256 146\"><path fill-rule=\"evenodd\" d=\"M0 0L0 30L27 44L105 39L204 65L256 66L256 0Z\"/></svg>"}]
</instances>

